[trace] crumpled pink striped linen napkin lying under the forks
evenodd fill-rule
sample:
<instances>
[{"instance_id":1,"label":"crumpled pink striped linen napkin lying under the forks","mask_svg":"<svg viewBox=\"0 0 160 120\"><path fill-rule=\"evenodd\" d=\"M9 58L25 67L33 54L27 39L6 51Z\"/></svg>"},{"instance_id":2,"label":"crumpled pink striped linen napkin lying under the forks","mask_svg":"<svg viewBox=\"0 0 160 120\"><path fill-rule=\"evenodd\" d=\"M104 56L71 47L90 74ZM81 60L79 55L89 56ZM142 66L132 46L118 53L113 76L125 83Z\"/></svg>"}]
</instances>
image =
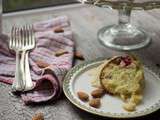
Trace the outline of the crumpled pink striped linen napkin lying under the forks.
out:
<instances>
[{"instance_id":1,"label":"crumpled pink striped linen napkin lying under the forks","mask_svg":"<svg viewBox=\"0 0 160 120\"><path fill-rule=\"evenodd\" d=\"M27 103L40 103L57 99L62 92L62 81L66 72L72 67L74 41L67 16L35 23L36 48L30 53L31 77L35 88L21 93ZM63 31L55 32L62 28ZM67 51L56 56L59 50ZM41 68L37 61L49 65ZM0 39L0 82L12 84L15 74L15 54L8 49L8 41Z\"/></svg>"}]
</instances>

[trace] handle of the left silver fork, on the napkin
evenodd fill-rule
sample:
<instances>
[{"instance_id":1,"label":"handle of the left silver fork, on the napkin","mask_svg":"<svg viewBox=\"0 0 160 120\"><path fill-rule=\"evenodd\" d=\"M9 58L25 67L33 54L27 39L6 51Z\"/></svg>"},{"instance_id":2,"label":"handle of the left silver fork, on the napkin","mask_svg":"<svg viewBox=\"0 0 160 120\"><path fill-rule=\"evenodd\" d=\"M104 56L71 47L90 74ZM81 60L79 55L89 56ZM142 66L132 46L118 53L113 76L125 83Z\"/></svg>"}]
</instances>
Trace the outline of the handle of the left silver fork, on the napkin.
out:
<instances>
[{"instance_id":1,"label":"handle of the left silver fork, on the napkin","mask_svg":"<svg viewBox=\"0 0 160 120\"><path fill-rule=\"evenodd\" d=\"M23 67L24 64L21 64L21 54L19 51L16 51L16 72L15 72L15 80L12 84L12 91L23 91L24 83L23 83Z\"/></svg>"}]
</instances>

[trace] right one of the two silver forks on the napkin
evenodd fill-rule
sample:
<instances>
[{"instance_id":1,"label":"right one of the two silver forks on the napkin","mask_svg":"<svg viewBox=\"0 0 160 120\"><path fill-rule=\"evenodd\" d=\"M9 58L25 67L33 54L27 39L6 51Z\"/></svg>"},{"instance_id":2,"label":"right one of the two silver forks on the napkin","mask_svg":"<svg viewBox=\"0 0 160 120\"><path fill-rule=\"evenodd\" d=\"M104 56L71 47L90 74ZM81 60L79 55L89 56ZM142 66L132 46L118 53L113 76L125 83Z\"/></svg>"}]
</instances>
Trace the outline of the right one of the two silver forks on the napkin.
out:
<instances>
[{"instance_id":1,"label":"right one of the two silver forks on the napkin","mask_svg":"<svg viewBox=\"0 0 160 120\"><path fill-rule=\"evenodd\" d=\"M24 84L25 88L24 91L28 91L33 89L34 84L31 79L30 68L29 68L29 61L28 61L28 54L29 50L35 48L35 38L33 27L30 25L23 26L21 30L22 36L22 63L24 63Z\"/></svg>"}]
</instances>

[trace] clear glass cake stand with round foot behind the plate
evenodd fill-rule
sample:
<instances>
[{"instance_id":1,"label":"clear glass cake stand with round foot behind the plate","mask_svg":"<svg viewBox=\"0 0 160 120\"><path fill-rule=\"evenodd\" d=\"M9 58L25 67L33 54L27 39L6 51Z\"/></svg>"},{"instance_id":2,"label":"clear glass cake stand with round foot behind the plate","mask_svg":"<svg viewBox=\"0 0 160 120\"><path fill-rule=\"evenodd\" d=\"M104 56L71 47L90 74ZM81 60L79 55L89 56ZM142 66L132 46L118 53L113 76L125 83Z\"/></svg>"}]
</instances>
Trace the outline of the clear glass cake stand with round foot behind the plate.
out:
<instances>
[{"instance_id":1,"label":"clear glass cake stand with round foot behind the plate","mask_svg":"<svg viewBox=\"0 0 160 120\"><path fill-rule=\"evenodd\" d=\"M118 25L105 26L98 31L98 39L103 45L117 50L135 50L149 45L151 37L142 28L130 23L131 11L160 7L160 2L98 0L94 4L101 7L111 6L119 11Z\"/></svg>"}]
</instances>

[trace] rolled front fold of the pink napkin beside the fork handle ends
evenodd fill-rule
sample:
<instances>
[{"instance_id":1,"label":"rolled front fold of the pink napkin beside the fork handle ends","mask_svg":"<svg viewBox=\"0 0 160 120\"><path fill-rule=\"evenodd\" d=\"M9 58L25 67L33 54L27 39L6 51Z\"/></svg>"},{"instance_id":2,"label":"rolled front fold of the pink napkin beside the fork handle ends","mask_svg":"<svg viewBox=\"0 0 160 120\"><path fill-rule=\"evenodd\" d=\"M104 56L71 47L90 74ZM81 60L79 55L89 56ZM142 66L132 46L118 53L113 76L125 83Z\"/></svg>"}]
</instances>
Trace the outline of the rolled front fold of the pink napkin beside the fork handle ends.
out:
<instances>
[{"instance_id":1,"label":"rolled front fold of the pink napkin beside the fork handle ends","mask_svg":"<svg viewBox=\"0 0 160 120\"><path fill-rule=\"evenodd\" d=\"M53 75L46 74L37 80L34 90L21 94L21 97L26 104L40 103L56 100L60 93L59 80Z\"/></svg>"}]
</instances>

